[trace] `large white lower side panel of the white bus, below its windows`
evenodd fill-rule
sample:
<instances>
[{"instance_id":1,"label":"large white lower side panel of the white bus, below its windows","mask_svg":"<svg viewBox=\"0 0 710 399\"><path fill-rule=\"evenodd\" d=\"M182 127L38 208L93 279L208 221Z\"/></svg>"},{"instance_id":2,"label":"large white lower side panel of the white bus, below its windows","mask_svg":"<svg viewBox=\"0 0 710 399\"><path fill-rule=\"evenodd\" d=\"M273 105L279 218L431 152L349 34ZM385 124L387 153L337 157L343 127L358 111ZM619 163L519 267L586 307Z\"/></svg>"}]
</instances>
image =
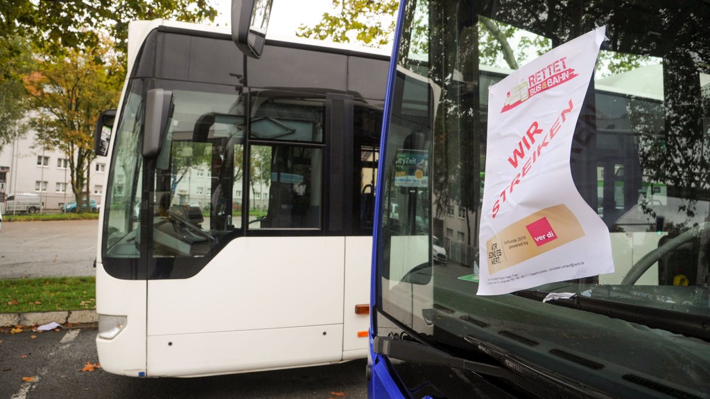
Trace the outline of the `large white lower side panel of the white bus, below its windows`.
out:
<instances>
[{"instance_id":1,"label":"large white lower side panel of the white bus, below its windows","mask_svg":"<svg viewBox=\"0 0 710 399\"><path fill-rule=\"evenodd\" d=\"M372 239L347 241L355 258L342 236L243 237L192 278L148 281L148 376L365 357L368 317L351 301L368 303Z\"/></svg>"}]
</instances>

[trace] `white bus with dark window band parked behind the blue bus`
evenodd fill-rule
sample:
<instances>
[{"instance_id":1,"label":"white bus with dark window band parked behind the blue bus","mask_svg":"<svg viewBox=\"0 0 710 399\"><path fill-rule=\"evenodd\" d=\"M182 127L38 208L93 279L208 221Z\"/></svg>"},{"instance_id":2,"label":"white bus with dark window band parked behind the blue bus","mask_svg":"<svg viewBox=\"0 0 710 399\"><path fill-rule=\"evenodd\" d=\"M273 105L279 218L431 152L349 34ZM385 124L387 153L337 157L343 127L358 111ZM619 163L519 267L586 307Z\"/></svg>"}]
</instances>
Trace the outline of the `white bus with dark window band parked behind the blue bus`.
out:
<instances>
[{"instance_id":1,"label":"white bus with dark window band parked behind the blue bus","mask_svg":"<svg viewBox=\"0 0 710 399\"><path fill-rule=\"evenodd\" d=\"M97 123L110 159L104 370L187 377L366 357L388 55L267 40L251 58L219 28L129 31L121 104Z\"/></svg>"}]
</instances>

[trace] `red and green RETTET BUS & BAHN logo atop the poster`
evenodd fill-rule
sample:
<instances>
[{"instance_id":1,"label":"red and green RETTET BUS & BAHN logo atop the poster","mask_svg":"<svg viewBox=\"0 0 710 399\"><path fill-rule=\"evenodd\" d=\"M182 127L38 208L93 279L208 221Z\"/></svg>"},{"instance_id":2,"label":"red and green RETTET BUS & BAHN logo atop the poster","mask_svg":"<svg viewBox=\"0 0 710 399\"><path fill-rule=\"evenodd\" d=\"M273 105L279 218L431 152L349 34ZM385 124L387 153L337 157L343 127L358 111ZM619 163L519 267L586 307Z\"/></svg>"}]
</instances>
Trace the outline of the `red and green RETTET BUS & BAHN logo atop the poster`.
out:
<instances>
[{"instance_id":1,"label":"red and green RETTET BUS & BAHN logo atop the poster","mask_svg":"<svg viewBox=\"0 0 710 399\"><path fill-rule=\"evenodd\" d=\"M530 99L530 97L545 92L547 89L552 89L552 87L559 86L564 82L569 82L569 80L577 76L579 76L577 72L574 72L574 69L568 67L567 57L559 58L559 60L529 75L528 80L520 80L520 84L511 87L510 90L508 90L506 102L503 104L501 114L523 104L523 102Z\"/></svg>"}]
</instances>

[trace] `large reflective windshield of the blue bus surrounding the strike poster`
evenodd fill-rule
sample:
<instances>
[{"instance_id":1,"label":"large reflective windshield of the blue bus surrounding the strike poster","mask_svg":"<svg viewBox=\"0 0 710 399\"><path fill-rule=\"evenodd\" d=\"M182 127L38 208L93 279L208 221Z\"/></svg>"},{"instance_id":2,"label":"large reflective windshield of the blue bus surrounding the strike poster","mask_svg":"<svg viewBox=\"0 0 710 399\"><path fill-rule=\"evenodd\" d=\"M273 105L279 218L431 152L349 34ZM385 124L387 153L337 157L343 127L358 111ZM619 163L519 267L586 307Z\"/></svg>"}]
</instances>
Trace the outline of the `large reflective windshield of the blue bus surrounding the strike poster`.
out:
<instances>
[{"instance_id":1,"label":"large reflective windshield of the blue bus surrounding the strike poster","mask_svg":"<svg viewBox=\"0 0 710 399\"><path fill-rule=\"evenodd\" d=\"M456 356L475 357L471 341L485 341L618 397L710 395L710 5L454 3L405 9L383 155L378 310ZM484 182L496 178L486 170L488 89L596 24L608 40L569 173L606 226L613 273L476 295ZM516 270L488 271L514 279ZM543 302L550 293L563 299Z\"/></svg>"}]
</instances>

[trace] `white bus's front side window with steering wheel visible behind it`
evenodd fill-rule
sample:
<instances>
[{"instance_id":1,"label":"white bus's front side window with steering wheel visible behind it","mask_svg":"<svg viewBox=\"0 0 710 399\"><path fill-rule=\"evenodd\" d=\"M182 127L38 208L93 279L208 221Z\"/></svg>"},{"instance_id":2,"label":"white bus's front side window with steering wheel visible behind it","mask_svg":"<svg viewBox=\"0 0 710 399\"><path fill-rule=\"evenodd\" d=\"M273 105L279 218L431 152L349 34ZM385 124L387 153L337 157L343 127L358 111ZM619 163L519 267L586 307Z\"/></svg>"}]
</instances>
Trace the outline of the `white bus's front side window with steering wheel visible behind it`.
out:
<instances>
[{"instance_id":1,"label":"white bus's front side window with steering wheel visible behind it","mask_svg":"<svg viewBox=\"0 0 710 399\"><path fill-rule=\"evenodd\" d=\"M156 160L155 256L205 256L234 224L244 117L238 94L173 90L175 111ZM241 211L241 209L240 209ZM237 212L241 214L241 212Z\"/></svg>"}]
</instances>

